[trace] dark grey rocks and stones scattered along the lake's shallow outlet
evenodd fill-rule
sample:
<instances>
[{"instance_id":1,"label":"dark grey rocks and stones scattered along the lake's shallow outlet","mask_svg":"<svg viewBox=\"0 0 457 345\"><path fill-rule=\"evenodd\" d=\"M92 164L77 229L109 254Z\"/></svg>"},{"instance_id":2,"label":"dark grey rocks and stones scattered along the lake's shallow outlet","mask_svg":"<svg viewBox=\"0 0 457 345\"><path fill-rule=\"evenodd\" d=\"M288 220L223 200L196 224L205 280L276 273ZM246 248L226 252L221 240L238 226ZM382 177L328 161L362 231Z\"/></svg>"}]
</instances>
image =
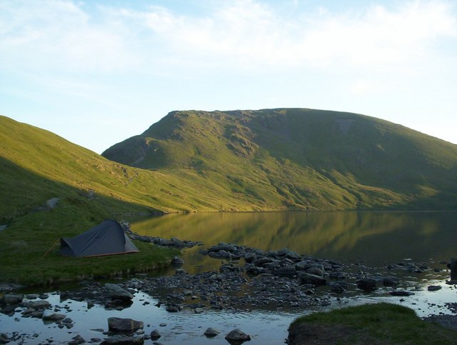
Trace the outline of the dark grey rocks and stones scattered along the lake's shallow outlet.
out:
<instances>
[{"instance_id":1,"label":"dark grey rocks and stones scattered along the lake's shallow outlet","mask_svg":"<svg viewBox=\"0 0 457 345\"><path fill-rule=\"evenodd\" d=\"M161 246L189 248L202 244L140 236L131 232L128 226L125 230L132 239ZM199 252L221 261L219 271L188 274L182 268L182 259L175 257L175 272L172 275L151 277L137 274L119 284L83 281L80 289L60 291L60 300L84 301L88 309L99 305L108 310L121 311L129 308L134 295L141 292L159 301L154 308L163 308L169 313L179 313L184 309L195 314L210 309L233 312L253 309L317 310L340 301L343 296L371 294L377 289L401 299L408 298L415 294L414 288L402 286L398 272L420 274L431 270L427 264L411 261L376 268L364 266L362 263L343 264L334 260L318 259L288 249L262 251L226 243L201 249ZM387 271L388 275L381 274L381 271ZM428 286L428 291L436 291L440 287ZM54 322L61 329L71 329L73 321L65 314L67 307L53 306L44 301L46 297L10 292L1 297L0 312L11 316L19 312L21 317L39 318ZM439 318L434 318L433 321L439 321ZM143 344L147 339L156 341L160 337L158 329L151 334L145 334L141 320L112 319L107 322L108 329L100 330L103 336L89 342ZM451 321L446 318L446 322ZM456 324L455 321L451 323ZM205 336L217 336L218 331L211 329L211 325L208 326ZM232 332L230 335L226 334L225 338L231 344L241 344L251 339L239 329L233 329ZM35 334L3 333L0 335L0 344L34 339L34 336ZM86 341L88 340L77 335L69 344L82 344Z\"/></svg>"}]
</instances>

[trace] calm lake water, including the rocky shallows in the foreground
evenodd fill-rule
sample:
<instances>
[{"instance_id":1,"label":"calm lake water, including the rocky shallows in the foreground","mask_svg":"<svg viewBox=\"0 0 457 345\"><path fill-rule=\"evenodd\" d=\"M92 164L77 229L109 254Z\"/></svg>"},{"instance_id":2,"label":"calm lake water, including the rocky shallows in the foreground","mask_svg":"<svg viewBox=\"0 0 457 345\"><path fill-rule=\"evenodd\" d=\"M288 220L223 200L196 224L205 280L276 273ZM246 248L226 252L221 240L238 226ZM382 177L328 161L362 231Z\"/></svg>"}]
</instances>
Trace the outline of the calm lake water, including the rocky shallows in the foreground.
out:
<instances>
[{"instance_id":1,"label":"calm lake water, including the rocky shallows in the foreground","mask_svg":"<svg viewBox=\"0 0 457 345\"><path fill-rule=\"evenodd\" d=\"M403 301L390 296L388 289L381 288L366 294L354 286L351 293L346 295L329 294L331 304L323 309L388 301L409 306L419 316L453 313L446 303L456 301L455 286L445 284L449 273L439 261L449 261L457 256L457 212L201 213L129 217L127 220L131 222L131 229L138 234L203 241L204 246L184 249L184 268L193 274L219 270L221 260L199 253L200 249L219 242L251 246L264 251L287 248L300 254L345 263L363 261L364 265L383 269L386 264L425 262L431 269L423 273L396 273L401 279L401 287L415 293ZM391 274L385 270L381 273ZM161 274L174 274L174 269ZM141 279L135 276L130 278ZM431 284L442 289L427 291L427 286ZM146 334L159 329L162 334L159 341L164 344L228 344L224 336L233 328L251 334L252 341L247 344L283 344L288 324L297 316L313 311L293 308L272 311L259 306L246 311L206 309L203 314L194 314L185 309L169 313L163 306L154 306L160 300L158 292L140 290L136 291L131 307L116 311L101 305L88 308L84 301L61 299L60 291L64 289L69 288L62 286L47 291L47 300L58 309L66 310L66 316L74 321L71 329L59 329L56 324L46 324L41 319L25 318L19 308L13 316L0 314L1 332L24 334L19 339L24 340L25 344L46 344L50 340L54 344L64 344L76 334L83 336L86 341L91 338L103 339L100 329L106 331L106 319L117 316L144 321ZM209 326L219 329L221 334L215 339L206 339L203 332ZM19 342L16 341L16 344ZM146 341L146 344L152 344L152 341Z\"/></svg>"}]
</instances>

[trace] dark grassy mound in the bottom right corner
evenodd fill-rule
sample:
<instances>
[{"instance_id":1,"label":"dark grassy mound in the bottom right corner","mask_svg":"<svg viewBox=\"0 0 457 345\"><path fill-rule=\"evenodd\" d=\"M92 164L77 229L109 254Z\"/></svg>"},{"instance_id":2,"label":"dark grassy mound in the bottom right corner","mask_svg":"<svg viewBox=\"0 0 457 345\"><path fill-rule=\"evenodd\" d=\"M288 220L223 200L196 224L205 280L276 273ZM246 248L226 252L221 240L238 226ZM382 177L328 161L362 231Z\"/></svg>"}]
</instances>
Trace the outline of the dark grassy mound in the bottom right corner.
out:
<instances>
[{"instance_id":1,"label":"dark grassy mound in the bottom right corner","mask_svg":"<svg viewBox=\"0 0 457 345\"><path fill-rule=\"evenodd\" d=\"M453 344L456 336L412 309L386 303L310 314L289 327L291 344Z\"/></svg>"}]
</instances>

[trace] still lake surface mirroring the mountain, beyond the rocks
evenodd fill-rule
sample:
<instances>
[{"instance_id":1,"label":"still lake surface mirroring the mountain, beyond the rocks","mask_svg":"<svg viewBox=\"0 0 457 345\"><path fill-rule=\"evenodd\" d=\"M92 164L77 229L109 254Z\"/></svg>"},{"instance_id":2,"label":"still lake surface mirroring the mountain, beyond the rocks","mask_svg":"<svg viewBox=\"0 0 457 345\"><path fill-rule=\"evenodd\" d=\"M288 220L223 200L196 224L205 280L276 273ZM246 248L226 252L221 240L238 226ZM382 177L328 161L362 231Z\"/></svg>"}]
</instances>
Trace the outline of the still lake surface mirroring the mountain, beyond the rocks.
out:
<instances>
[{"instance_id":1,"label":"still lake surface mirroring the mountain, beyond the rocks","mask_svg":"<svg viewBox=\"0 0 457 345\"><path fill-rule=\"evenodd\" d=\"M139 234L231 242L266 251L288 248L301 254L392 263L456 256L457 212L319 211L170 214L136 219Z\"/></svg>"}]
</instances>

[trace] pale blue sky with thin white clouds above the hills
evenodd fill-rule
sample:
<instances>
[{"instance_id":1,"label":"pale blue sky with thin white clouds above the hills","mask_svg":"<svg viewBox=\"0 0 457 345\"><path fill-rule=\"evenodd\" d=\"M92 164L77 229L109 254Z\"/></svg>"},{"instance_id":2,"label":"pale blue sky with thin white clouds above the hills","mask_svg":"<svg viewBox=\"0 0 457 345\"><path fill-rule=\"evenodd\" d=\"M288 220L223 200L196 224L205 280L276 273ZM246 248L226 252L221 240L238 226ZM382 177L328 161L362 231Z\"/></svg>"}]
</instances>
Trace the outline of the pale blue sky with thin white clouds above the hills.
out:
<instances>
[{"instance_id":1,"label":"pale blue sky with thin white clouds above the hills","mask_svg":"<svg viewBox=\"0 0 457 345\"><path fill-rule=\"evenodd\" d=\"M0 0L0 114L96 153L169 111L282 107L457 144L457 1Z\"/></svg>"}]
</instances>

